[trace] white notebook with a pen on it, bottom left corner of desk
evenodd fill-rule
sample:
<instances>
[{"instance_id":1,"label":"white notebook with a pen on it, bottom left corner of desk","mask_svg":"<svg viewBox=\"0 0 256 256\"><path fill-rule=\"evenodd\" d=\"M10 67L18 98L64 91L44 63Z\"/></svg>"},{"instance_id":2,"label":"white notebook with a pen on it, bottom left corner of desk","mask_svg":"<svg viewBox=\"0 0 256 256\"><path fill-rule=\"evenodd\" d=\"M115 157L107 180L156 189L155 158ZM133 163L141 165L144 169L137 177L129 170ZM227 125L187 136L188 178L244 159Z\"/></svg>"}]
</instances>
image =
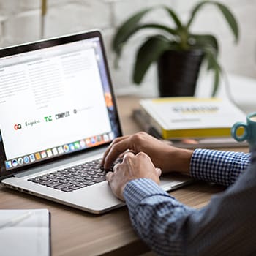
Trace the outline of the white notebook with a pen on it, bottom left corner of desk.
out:
<instances>
[{"instance_id":1,"label":"white notebook with a pen on it, bottom left corner of desk","mask_svg":"<svg viewBox=\"0 0 256 256\"><path fill-rule=\"evenodd\" d=\"M49 256L49 211L0 210L0 248L4 256Z\"/></svg>"}]
</instances>

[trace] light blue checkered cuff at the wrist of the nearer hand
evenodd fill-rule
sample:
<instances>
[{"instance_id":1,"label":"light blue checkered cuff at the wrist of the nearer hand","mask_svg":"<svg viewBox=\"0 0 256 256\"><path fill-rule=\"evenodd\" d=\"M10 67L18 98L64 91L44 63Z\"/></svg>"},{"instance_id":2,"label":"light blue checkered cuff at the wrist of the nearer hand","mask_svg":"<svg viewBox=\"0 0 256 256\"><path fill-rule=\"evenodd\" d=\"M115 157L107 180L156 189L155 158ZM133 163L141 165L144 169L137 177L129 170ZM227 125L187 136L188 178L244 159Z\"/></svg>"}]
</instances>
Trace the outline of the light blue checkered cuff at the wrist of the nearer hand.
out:
<instances>
[{"instance_id":1,"label":"light blue checkered cuff at the wrist of the nearer hand","mask_svg":"<svg viewBox=\"0 0 256 256\"><path fill-rule=\"evenodd\" d=\"M165 190L159 187L150 178L138 178L129 181L124 188L124 199L130 211L135 211L142 200L154 195L170 197Z\"/></svg>"}]
</instances>

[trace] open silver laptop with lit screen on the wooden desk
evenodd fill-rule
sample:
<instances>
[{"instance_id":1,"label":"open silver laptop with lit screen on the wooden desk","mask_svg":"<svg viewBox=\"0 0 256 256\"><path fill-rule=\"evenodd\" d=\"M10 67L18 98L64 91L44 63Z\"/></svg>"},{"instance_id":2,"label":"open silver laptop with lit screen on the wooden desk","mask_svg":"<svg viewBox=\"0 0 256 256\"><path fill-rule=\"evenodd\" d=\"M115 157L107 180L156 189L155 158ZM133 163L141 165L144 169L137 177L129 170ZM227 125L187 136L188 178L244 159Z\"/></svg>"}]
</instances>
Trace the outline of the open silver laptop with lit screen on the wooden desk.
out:
<instances>
[{"instance_id":1,"label":"open silver laptop with lit screen on the wooden desk","mask_svg":"<svg viewBox=\"0 0 256 256\"><path fill-rule=\"evenodd\" d=\"M0 132L5 187L94 214L124 206L100 167L122 135L100 31L0 49Z\"/></svg>"}]
</instances>

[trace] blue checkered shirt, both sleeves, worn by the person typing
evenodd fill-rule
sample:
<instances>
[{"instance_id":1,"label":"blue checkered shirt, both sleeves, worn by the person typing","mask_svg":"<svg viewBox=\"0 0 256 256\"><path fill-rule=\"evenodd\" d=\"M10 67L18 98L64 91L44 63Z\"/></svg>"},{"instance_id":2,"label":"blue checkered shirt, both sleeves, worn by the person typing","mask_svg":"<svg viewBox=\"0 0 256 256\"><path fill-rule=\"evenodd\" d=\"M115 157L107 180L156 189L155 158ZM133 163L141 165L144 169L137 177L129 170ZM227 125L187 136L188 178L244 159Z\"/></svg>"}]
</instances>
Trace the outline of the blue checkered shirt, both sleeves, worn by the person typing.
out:
<instances>
[{"instance_id":1,"label":"blue checkered shirt, both sleeves, worn by the person typing","mask_svg":"<svg viewBox=\"0 0 256 256\"><path fill-rule=\"evenodd\" d=\"M256 153L250 162L251 154L196 149L191 176L228 186L200 209L150 179L129 181L124 198L132 226L159 255L256 255Z\"/></svg>"}]
</instances>

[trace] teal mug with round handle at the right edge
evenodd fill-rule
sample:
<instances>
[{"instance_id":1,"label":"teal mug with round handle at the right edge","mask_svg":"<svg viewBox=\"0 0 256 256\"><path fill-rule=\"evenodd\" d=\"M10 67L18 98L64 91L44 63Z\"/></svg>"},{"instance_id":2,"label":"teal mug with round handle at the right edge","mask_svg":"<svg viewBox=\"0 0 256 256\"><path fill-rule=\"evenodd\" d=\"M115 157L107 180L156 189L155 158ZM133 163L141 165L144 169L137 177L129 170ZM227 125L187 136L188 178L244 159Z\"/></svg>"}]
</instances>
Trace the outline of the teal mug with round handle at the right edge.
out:
<instances>
[{"instance_id":1,"label":"teal mug with round handle at the right edge","mask_svg":"<svg viewBox=\"0 0 256 256\"><path fill-rule=\"evenodd\" d=\"M238 134L238 128L244 128L244 133ZM237 141L247 140L250 151L256 146L256 112L249 113L246 116L246 123L238 121L231 128L231 135Z\"/></svg>"}]
</instances>

